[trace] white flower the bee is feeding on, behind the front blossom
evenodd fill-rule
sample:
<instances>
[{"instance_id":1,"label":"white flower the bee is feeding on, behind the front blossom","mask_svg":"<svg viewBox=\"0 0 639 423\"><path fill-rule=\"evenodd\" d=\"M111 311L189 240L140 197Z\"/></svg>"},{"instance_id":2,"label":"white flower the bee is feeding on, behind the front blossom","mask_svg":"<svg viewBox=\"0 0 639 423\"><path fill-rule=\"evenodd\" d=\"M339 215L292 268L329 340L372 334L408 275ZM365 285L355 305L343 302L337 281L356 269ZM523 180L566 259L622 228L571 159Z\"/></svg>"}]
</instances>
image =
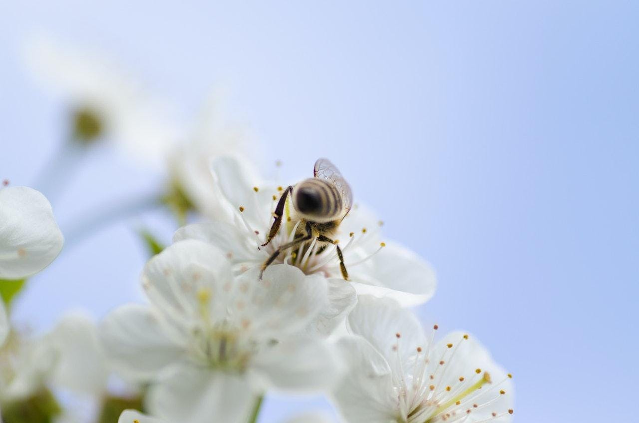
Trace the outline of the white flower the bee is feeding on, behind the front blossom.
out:
<instances>
[{"instance_id":1,"label":"white flower the bee is feeding on, behind the front blossom","mask_svg":"<svg viewBox=\"0 0 639 423\"><path fill-rule=\"evenodd\" d=\"M217 203L224 206L224 211L217 213L211 222L178 229L174 241L196 238L213 243L233 261L234 270L241 272L261 265L277 247L293 240L299 222L291 218L289 222L282 222L272 242L258 249L272 225L273 210L283 186L263 183L250 166L237 157L215 158L212 171L218 187L212 192L219 195ZM435 292L431 266L410 250L383 242L380 226L378 219L357 206L339 226L337 238L353 286L358 293L390 296L403 305L425 302ZM293 260L292 254L298 257ZM307 274L342 278L334 245L321 250L318 243L314 243L306 252L289 250L273 263L293 264Z\"/></svg>"}]
</instances>

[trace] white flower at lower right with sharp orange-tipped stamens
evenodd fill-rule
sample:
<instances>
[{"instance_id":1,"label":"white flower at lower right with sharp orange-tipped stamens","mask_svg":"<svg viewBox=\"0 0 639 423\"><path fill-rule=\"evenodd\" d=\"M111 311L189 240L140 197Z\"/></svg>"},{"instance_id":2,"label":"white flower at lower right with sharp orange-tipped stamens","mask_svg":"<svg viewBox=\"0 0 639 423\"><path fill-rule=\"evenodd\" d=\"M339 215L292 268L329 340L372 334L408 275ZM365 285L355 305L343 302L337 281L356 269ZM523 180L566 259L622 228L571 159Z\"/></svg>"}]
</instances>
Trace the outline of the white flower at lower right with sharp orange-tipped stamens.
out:
<instances>
[{"instance_id":1,"label":"white flower at lower right with sharp orange-tipped stamens","mask_svg":"<svg viewBox=\"0 0 639 423\"><path fill-rule=\"evenodd\" d=\"M484 422L509 420L510 374L461 332L434 342L417 318L392 300L361 296L340 345L350 373L334 392L346 420Z\"/></svg>"}]
</instances>

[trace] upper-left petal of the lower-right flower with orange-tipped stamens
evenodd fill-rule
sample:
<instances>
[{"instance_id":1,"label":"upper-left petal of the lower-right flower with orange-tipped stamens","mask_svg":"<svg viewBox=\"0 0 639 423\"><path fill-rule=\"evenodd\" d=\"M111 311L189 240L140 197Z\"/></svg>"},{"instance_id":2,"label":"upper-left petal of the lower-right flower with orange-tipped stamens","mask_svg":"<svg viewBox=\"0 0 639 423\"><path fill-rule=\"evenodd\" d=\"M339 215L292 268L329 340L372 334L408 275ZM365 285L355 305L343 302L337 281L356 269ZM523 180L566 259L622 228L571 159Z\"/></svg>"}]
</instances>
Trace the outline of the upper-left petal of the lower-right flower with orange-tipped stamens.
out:
<instances>
[{"instance_id":1,"label":"upper-left petal of the lower-right flower with orange-tipped stamens","mask_svg":"<svg viewBox=\"0 0 639 423\"><path fill-rule=\"evenodd\" d=\"M404 359L413 355L417 346L427 344L417 317L390 298L360 295L348 323L353 334L371 342L389 362L397 359L398 344Z\"/></svg>"}]
</instances>

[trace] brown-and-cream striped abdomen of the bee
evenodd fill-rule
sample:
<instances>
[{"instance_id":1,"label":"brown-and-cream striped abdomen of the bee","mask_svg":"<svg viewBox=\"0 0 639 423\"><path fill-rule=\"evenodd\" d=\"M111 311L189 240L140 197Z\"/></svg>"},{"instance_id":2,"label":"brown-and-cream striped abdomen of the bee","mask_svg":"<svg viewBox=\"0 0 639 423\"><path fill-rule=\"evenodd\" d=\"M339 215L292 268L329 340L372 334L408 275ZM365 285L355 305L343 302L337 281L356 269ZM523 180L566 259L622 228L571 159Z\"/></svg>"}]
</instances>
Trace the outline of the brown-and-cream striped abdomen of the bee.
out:
<instances>
[{"instance_id":1,"label":"brown-and-cream striped abdomen of the bee","mask_svg":"<svg viewBox=\"0 0 639 423\"><path fill-rule=\"evenodd\" d=\"M307 220L328 222L341 217L344 201L335 185L311 178L293 188L293 207Z\"/></svg>"}]
</instances>

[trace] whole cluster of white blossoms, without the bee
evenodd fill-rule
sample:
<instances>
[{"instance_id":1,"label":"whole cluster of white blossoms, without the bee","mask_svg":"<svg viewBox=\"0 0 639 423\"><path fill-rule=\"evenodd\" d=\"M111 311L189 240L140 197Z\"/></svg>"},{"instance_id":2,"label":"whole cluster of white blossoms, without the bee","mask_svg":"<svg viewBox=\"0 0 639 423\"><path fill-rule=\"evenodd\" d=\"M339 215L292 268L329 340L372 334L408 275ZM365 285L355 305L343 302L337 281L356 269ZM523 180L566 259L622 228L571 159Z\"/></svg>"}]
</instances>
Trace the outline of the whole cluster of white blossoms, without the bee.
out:
<instances>
[{"instance_id":1,"label":"whole cluster of white blossoms, without the bee","mask_svg":"<svg viewBox=\"0 0 639 423\"><path fill-rule=\"evenodd\" d=\"M40 45L47 54L37 57L56 70L70 53L51 48ZM127 128L123 104L138 123L147 116L130 104L130 87L122 96L104 88L118 80L82 67L72 75L55 76L73 86L76 138L93 142L107 127ZM94 79L102 91L91 89ZM211 133L236 139L223 126ZM120 138L149 138L142 135L123 130ZM69 314L29 336L0 301L0 421L254 423L270 392L325 394L344 422L511 419L511 374L471 335L424 330L408 307L433 296L435 273L383 238L371 211L349 204L331 242L312 233L288 247L307 222L282 199L289 184L254 173L223 142L200 141L167 153L163 204L180 222L193 210L198 221L179 227L144 266L146 302L121 305L97 325ZM273 217L282 220L274 232ZM40 192L0 188L0 284L24 283L62 245ZM65 392L90 410L73 410ZM290 420L328 421L313 413Z\"/></svg>"}]
</instances>

